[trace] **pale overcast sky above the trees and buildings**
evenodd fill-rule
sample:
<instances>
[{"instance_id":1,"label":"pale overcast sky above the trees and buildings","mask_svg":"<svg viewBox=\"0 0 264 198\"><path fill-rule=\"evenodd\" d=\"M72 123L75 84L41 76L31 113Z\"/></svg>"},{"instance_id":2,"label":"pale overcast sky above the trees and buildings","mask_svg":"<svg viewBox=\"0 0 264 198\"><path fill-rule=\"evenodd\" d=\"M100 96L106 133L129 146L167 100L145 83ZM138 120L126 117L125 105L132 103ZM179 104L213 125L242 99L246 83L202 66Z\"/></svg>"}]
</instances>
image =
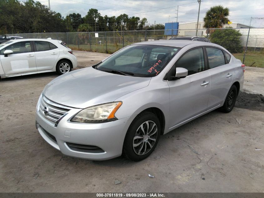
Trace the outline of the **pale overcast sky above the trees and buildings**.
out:
<instances>
[{"instance_id":1,"label":"pale overcast sky above the trees and buildings","mask_svg":"<svg viewBox=\"0 0 264 198\"><path fill-rule=\"evenodd\" d=\"M39 1L48 5L48 0ZM70 13L80 13L84 17L90 8L95 8L101 16L111 17L126 13L129 17L137 16L140 19L145 17L150 24L154 24L154 21L156 24L176 22L177 5L179 23L197 21L199 8L197 0L50 0L51 10L61 13L64 17ZM201 2L199 20L203 20L206 11L216 5L229 8L228 18L233 23L249 25L250 18L254 17L251 25L264 27L264 19L257 19L264 17L263 0L205 0Z\"/></svg>"}]
</instances>

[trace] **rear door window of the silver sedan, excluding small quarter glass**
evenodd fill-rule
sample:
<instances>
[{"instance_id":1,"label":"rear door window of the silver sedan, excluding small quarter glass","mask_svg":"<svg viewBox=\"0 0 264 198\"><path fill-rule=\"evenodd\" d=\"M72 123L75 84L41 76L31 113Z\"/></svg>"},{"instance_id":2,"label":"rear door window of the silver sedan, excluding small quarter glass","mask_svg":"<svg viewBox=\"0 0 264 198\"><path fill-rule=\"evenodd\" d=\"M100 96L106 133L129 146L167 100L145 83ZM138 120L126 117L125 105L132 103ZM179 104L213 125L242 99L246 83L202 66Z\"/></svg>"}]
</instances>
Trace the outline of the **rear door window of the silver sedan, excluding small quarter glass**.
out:
<instances>
[{"instance_id":1,"label":"rear door window of the silver sedan, excluding small quarter glass","mask_svg":"<svg viewBox=\"0 0 264 198\"><path fill-rule=\"evenodd\" d=\"M213 69L226 64L225 57L221 49L206 48L206 51L209 61L209 69Z\"/></svg>"}]
</instances>

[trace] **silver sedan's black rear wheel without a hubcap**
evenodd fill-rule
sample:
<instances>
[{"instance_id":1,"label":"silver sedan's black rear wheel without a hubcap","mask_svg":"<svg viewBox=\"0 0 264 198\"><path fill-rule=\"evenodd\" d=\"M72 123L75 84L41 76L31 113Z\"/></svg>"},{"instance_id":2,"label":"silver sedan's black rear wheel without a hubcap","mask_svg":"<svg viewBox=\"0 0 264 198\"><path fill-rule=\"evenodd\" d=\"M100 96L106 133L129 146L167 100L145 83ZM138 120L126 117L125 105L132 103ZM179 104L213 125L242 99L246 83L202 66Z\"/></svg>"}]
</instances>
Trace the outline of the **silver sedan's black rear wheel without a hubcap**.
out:
<instances>
[{"instance_id":1,"label":"silver sedan's black rear wheel without a hubcap","mask_svg":"<svg viewBox=\"0 0 264 198\"><path fill-rule=\"evenodd\" d=\"M233 84L228 91L227 98L224 105L221 107L221 111L224 113L229 113L232 111L237 100L237 87Z\"/></svg>"}]
</instances>

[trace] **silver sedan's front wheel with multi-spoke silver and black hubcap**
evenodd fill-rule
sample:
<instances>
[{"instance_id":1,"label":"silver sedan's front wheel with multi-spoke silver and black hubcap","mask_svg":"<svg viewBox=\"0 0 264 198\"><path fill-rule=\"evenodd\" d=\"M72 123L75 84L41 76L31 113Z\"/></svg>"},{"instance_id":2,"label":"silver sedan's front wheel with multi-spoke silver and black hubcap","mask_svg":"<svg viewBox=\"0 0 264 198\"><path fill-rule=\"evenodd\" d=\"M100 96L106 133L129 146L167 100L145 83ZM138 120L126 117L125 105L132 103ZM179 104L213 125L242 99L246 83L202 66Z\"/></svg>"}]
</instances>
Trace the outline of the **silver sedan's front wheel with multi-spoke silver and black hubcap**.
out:
<instances>
[{"instance_id":1,"label":"silver sedan's front wheel with multi-spoke silver and black hubcap","mask_svg":"<svg viewBox=\"0 0 264 198\"><path fill-rule=\"evenodd\" d=\"M127 130L123 154L130 160L147 158L157 146L160 137L160 122L151 112L143 112L133 120Z\"/></svg>"}]
</instances>

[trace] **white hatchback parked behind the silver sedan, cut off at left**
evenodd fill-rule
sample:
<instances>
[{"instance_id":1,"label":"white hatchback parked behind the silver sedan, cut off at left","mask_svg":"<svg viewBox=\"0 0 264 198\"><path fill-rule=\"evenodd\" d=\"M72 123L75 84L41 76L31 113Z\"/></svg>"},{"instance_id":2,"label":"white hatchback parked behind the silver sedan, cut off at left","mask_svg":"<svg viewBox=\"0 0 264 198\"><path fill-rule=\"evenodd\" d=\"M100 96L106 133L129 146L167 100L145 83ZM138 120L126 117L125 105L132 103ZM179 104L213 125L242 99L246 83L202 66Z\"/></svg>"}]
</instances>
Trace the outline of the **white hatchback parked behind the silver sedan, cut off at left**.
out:
<instances>
[{"instance_id":1,"label":"white hatchback parked behind the silver sedan, cut off at left","mask_svg":"<svg viewBox=\"0 0 264 198\"><path fill-rule=\"evenodd\" d=\"M77 58L62 41L17 39L0 44L0 77L57 71L65 74L77 67Z\"/></svg>"}]
</instances>

